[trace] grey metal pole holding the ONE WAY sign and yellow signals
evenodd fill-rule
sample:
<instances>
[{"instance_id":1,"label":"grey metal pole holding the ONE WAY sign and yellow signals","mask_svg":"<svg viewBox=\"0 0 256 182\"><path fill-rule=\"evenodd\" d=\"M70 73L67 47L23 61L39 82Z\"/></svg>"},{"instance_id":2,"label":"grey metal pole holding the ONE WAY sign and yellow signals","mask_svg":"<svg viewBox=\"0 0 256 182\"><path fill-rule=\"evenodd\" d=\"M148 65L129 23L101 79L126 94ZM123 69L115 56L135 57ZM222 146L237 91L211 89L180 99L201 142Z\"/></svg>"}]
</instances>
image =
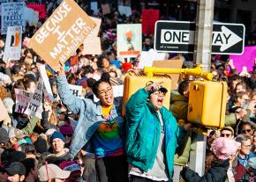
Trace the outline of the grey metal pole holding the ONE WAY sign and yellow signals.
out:
<instances>
[{"instance_id":1,"label":"grey metal pole holding the ONE WAY sign and yellow signals","mask_svg":"<svg viewBox=\"0 0 256 182\"><path fill-rule=\"evenodd\" d=\"M209 71L212 54L212 34L215 0L198 0L194 60L203 71ZM194 133L190 152L189 167L202 176L205 172L207 138Z\"/></svg>"}]
</instances>

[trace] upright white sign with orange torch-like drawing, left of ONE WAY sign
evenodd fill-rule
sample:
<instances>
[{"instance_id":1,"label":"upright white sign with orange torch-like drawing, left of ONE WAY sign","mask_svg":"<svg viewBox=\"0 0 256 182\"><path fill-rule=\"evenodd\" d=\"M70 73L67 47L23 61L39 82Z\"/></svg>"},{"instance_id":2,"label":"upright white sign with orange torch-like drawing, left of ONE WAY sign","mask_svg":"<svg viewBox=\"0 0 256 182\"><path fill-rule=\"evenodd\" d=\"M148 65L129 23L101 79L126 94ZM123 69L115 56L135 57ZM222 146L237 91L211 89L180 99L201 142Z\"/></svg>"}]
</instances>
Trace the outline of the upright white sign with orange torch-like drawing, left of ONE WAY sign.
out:
<instances>
[{"instance_id":1,"label":"upright white sign with orange torch-like drawing, left of ONE WAY sign","mask_svg":"<svg viewBox=\"0 0 256 182\"><path fill-rule=\"evenodd\" d=\"M117 25L117 55L137 57L142 47L141 24Z\"/></svg>"}]
</instances>

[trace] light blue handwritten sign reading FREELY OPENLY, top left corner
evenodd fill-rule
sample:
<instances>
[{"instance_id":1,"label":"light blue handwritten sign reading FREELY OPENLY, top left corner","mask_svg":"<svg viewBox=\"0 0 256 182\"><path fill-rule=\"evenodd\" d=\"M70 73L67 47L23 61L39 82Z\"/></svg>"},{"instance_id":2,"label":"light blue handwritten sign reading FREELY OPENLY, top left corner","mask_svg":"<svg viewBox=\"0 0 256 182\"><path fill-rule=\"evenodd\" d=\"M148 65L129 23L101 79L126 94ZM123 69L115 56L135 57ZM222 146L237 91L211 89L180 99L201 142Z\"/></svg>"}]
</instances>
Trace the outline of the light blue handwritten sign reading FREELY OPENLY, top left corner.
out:
<instances>
[{"instance_id":1,"label":"light blue handwritten sign reading FREELY OPENLY, top left corner","mask_svg":"<svg viewBox=\"0 0 256 182\"><path fill-rule=\"evenodd\" d=\"M23 2L1 4L1 33L6 34L9 26L25 26Z\"/></svg>"}]
</instances>

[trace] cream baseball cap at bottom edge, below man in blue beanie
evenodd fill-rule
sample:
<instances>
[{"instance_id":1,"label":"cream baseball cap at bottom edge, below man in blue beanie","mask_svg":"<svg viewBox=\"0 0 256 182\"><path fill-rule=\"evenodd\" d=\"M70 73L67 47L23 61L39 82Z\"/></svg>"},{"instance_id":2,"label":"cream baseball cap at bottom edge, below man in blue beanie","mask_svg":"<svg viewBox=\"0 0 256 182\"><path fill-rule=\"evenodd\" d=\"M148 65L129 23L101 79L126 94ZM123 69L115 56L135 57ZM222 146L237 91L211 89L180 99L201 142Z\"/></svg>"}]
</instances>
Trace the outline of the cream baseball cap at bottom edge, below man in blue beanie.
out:
<instances>
[{"instance_id":1,"label":"cream baseball cap at bottom edge, below man in blue beanie","mask_svg":"<svg viewBox=\"0 0 256 182\"><path fill-rule=\"evenodd\" d=\"M42 165L38 171L38 177L40 181L48 181L52 178L68 178L71 171L64 171L60 169L56 164Z\"/></svg>"}]
</instances>

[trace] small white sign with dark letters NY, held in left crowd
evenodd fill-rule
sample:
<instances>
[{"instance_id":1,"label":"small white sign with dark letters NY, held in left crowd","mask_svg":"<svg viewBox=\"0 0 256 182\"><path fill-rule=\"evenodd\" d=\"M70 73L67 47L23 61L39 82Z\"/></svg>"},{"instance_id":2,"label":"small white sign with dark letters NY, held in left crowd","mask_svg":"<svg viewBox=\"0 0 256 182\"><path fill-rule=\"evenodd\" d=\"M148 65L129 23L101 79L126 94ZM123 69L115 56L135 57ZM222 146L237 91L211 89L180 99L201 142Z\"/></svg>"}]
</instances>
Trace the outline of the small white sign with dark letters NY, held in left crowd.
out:
<instances>
[{"instance_id":1,"label":"small white sign with dark letters NY, held in left crowd","mask_svg":"<svg viewBox=\"0 0 256 182\"><path fill-rule=\"evenodd\" d=\"M33 93L29 93L27 91L22 91L20 89L14 89L16 96L15 103L15 112L16 113L25 113L26 107L30 102L30 98L32 98Z\"/></svg>"}]
</instances>

